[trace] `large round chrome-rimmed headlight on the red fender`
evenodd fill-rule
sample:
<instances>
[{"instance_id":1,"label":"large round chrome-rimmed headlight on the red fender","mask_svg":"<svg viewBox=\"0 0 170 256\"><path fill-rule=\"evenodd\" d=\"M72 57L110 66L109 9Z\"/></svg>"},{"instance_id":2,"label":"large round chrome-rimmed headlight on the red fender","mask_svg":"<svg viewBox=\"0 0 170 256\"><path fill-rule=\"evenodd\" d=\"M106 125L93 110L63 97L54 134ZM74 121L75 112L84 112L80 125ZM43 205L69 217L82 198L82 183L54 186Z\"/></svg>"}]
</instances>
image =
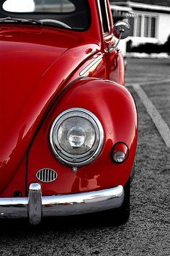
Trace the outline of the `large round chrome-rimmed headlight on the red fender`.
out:
<instances>
[{"instance_id":1,"label":"large round chrome-rimmed headlight on the red fender","mask_svg":"<svg viewBox=\"0 0 170 256\"><path fill-rule=\"evenodd\" d=\"M70 166L84 166L99 155L104 142L102 124L84 108L61 113L50 130L50 144L56 158Z\"/></svg>"}]
</instances>

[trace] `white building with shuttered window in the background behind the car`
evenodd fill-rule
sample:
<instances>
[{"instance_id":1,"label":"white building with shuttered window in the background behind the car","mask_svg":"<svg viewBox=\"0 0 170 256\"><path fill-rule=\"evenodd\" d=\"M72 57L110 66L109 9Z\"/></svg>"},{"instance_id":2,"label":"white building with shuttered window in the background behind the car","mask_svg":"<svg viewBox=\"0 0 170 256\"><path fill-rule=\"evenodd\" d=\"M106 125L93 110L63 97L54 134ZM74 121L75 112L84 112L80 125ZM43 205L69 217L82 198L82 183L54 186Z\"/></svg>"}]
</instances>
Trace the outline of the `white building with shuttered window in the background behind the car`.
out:
<instances>
[{"instance_id":1,"label":"white building with shuttered window in the background behind the car","mask_svg":"<svg viewBox=\"0 0 170 256\"><path fill-rule=\"evenodd\" d=\"M127 40L133 46L166 42L170 35L170 0L110 0L110 5L115 21L130 23ZM125 40L122 44L125 51Z\"/></svg>"}]
</instances>

